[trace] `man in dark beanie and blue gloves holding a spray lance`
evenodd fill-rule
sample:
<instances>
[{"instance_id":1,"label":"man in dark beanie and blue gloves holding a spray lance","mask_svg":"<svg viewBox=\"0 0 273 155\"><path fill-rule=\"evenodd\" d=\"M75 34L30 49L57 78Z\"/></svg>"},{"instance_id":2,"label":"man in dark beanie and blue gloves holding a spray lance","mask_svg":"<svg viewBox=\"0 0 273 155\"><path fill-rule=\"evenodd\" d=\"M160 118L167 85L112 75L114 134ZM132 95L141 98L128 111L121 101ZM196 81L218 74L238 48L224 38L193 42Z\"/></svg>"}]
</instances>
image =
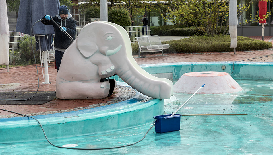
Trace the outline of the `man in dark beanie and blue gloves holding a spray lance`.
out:
<instances>
[{"instance_id":1,"label":"man in dark beanie and blue gloves holding a spray lance","mask_svg":"<svg viewBox=\"0 0 273 155\"><path fill-rule=\"evenodd\" d=\"M58 72L63 54L72 41L69 36L62 32L59 26L55 25L51 20L54 20L58 25L60 25L63 30L65 30L73 38L73 40L75 40L75 35L77 32L77 22L74 18L72 18L72 15L68 12L67 6L65 5L59 7L58 15L52 17L52 19L49 15L45 15L42 19L46 19L42 20L43 24L53 25L54 28L55 68Z\"/></svg>"}]
</instances>

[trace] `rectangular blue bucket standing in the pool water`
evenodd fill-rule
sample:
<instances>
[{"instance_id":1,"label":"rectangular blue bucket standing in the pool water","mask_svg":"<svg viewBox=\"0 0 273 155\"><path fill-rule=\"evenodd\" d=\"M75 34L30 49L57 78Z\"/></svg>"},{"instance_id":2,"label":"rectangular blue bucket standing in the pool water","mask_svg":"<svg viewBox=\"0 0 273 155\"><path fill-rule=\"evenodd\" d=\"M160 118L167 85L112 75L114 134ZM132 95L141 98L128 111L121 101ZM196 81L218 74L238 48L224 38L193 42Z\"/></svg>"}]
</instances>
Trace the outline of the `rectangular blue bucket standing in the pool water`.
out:
<instances>
[{"instance_id":1,"label":"rectangular blue bucket standing in the pool water","mask_svg":"<svg viewBox=\"0 0 273 155\"><path fill-rule=\"evenodd\" d=\"M171 131L180 130L180 117L181 114L167 114L154 116L154 125L156 128L156 133L164 133Z\"/></svg>"}]
</instances>

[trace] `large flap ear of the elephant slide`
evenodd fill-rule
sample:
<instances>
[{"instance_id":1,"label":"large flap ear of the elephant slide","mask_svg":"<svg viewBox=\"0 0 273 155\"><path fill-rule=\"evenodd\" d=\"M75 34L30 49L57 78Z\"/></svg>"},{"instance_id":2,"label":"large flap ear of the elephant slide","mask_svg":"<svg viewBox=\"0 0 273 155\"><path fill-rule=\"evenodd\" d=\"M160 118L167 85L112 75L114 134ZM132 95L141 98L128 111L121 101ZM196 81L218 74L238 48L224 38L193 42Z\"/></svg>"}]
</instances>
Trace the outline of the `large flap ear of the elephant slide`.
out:
<instances>
[{"instance_id":1,"label":"large flap ear of the elephant slide","mask_svg":"<svg viewBox=\"0 0 273 155\"><path fill-rule=\"evenodd\" d=\"M92 24L94 25L95 23L85 25L76 39L77 48L85 58L89 58L98 51L96 34L94 33L96 32L94 30L95 26L92 26Z\"/></svg>"}]
</instances>

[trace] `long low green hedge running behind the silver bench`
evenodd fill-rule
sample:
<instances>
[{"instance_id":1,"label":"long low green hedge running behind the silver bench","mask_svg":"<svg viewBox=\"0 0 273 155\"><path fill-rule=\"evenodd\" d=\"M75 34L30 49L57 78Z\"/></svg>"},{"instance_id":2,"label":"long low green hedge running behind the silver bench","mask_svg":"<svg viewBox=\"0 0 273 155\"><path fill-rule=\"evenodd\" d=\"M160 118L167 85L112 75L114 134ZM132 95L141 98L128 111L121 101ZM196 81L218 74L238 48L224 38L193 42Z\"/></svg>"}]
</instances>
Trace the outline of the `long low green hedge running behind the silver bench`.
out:
<instances>
[{"instance_id":1,"label":"long low green hedge running behind the silver bench","mask_svg":"<svg viewBox=\"0 0 273 155\"><path fill-rule=\"evenodd\" d=\"M195 36L181 40L171 40L162 42L169 44L169 49L164 49L163 53L205 53L205 52L232 52L230 48L230 36ZM272 47L271 42L256 40L248 37L237 36L236 51L263 50ZM138 44L132 44L133 55L138 55ZM154 54L155 52L142 53Z\"/></svg>"}]
</instances>

